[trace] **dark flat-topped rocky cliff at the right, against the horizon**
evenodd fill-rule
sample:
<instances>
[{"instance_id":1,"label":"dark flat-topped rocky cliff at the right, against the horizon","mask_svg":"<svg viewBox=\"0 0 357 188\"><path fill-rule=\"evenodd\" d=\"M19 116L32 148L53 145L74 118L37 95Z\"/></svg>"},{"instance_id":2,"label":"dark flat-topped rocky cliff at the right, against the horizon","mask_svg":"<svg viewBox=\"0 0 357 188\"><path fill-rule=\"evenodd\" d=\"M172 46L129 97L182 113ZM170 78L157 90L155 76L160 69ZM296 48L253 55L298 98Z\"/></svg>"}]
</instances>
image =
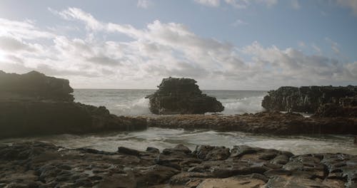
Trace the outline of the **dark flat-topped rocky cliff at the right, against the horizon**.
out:
<instances>
[{"instance_id":1,"label":"dark flat-topped rocky cliff at the right, against the horizon","mask_svg":"<svg viewBox=\"0 0 357 188\"><path fill-rule=\"evenodd\" d=\"M340 105L343 98L357 95L357 87L309 86L281 87L271 90L263 98L261 105L266 110L316 113L321 105L333 103Z\"/></svg>"}]
</instances>

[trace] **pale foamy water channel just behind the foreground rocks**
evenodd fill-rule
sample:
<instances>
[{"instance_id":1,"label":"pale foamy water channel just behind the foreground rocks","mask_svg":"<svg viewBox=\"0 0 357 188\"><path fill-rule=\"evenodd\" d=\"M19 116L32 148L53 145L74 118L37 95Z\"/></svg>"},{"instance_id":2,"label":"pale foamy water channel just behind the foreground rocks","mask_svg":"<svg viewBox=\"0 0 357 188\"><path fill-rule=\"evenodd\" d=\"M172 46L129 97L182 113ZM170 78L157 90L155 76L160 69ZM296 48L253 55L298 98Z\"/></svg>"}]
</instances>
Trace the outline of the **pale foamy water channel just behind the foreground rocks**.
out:
<instances>
[{"instance_id":1,"label":"pale foamy water channel just behind the foreground rocks","mask_svg":"<svg viewBox=\"0 0 357 188\"><path fill-rule=\"evenodd\" d=\"M248 145L276 150L286 150L295 155L321 152L341 152L357 155L351 135L308 135L271 136L246 132L216 132L213 130L172 130L149 127L138 132L110 132L87 135L51 135L0 140L0 143L19 141L44 141L69 148L89 147L96 150L114 152L119 146L136 150L157 147L163 150L183 144L194 150L196 145L216 145L233 147Z\"/></svg>"}]
</instances>

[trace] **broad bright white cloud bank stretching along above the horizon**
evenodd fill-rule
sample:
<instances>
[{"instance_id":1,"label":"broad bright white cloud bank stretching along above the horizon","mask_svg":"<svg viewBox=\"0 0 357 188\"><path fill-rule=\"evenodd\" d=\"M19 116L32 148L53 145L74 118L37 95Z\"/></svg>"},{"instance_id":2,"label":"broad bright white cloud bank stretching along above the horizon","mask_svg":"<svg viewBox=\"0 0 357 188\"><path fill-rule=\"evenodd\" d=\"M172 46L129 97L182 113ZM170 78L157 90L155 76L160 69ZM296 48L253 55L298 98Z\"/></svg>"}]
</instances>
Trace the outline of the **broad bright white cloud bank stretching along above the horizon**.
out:
<instances>
[{"instance_id":1,"label":"broad bright white cloud bank stretching along above the horizon","mask_svg":"<svg viewBox=\"0 0 357 188\"><path fill-rule=\"evenodd\" d=\"M1 56L6 58L0 58L0 69L60 75L69 78L75 88L154 88L162 78L177 76L195 78L202 88L268 90L281 85L353 83L357 76L356 62L341 63L322 56L315 45L317 55L263 47L257 41L234 46L198 36L181 23L156 20L136 28L99 21L76 8L52 12L65 21L83 23L76 25L82 36L49 33L46 42L43 36L21 33L1 36L0 46L8 49L1 47ZM7 24L48 33L29 21L8 20ZM106 40L103 33L128 39Z\"/></svg>"}]
</instances>

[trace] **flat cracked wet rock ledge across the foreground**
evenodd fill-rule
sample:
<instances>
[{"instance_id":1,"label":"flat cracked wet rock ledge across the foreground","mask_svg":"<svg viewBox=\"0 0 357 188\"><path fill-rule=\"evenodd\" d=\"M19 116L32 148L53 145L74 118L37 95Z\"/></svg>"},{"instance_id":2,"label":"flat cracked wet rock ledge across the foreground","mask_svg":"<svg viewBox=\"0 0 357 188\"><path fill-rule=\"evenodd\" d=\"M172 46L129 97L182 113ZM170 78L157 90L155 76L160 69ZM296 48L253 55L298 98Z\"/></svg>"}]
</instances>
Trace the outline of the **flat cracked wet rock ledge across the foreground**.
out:
<instances>
[{"instance_id":1,"label":"flat cracked wet rock ledge across the foreground","mask_svg":"<svg viewBox=\"0 0 357 188\"><path fill-rule=\"evenodd\" d=\"M159 151L0 145L0 187L357 187L357 156L244 145Z\"/></svg>"}]
</instances>

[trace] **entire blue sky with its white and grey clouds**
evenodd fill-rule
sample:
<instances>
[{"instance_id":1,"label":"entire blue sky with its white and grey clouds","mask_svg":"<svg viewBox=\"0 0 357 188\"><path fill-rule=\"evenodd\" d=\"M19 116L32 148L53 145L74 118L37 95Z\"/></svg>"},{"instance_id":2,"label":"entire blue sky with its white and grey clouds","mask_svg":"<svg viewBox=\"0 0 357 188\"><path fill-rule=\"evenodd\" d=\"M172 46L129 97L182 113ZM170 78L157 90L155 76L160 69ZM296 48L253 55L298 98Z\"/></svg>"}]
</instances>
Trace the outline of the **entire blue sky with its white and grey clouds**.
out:
<instances>
[{"instance_id":1,"label":"entire blue sky with its white and grey clouds","mask_svg":"<svg viewBox=\"0 0 357 188\"><path fill-rule=\"evenodd\" d=\"M357 85L357 1L1 0L0 70L73 88Z\"/></svg>"}]
</instances>

